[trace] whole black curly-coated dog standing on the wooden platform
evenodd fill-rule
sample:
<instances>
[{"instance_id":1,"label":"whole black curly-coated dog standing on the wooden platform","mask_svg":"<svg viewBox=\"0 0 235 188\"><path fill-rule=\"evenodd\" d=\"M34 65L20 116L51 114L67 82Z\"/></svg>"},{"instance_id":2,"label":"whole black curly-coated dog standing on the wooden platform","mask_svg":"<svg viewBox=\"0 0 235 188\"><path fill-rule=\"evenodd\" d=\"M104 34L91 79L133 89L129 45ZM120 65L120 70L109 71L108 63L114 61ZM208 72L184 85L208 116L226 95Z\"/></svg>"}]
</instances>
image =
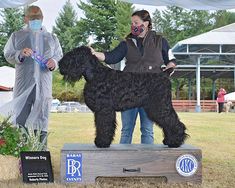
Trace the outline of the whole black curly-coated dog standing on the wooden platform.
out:
<instances>
[{"instance_id":1,"label":"whole black curly-coated dog standing on the wooden platform","mask_svg":"<svg viewBox=\"0 0 235 188\"><path fill-rule=\"evenodd\" d=\"M179 147L187 138L171 102L169 73L129 73L102 65L90 48L82 46L59 61L60 73L68 81L86 80L84 98L94 112L97 147L109 147L116 129L116 111L143 107L148 117L163 129L163 143Z\"/></svg>"}]
</instances>

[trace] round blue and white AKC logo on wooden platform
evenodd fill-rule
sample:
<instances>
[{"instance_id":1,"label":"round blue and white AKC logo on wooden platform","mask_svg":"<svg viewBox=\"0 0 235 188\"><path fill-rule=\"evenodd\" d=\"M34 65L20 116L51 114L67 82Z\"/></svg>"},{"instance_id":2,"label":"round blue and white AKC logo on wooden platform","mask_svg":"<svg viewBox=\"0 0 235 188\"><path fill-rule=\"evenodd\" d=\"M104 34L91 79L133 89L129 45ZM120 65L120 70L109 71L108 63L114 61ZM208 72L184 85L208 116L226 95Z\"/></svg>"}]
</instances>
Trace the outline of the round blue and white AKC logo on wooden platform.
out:
<instances>
[{"instance_id":1,"label":"round blue and white AKC logo on wooden platform","mask_svg":"<svg viewBox=\"0 0 235 188\"><path fill-rule=\"evenodd\" d=\"M181 155L176 160L176 170L177 172L185 177L192 176L198 168L197 159L190 154Z\"/></svg>"}]
</instances>

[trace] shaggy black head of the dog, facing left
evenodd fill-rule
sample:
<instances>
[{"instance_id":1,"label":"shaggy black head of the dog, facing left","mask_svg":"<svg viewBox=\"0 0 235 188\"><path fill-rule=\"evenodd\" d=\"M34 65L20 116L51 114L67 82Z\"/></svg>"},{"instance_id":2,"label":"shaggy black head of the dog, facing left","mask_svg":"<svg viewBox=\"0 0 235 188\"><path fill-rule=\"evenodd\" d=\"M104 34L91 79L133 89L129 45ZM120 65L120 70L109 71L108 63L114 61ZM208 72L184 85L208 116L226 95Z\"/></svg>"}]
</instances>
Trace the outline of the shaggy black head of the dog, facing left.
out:
<instances>
[{"instance_id":1,"label":"shaggy black head of the dog, facing left","mask_svg":"<svg viewBox=\"0 0 235 188\"><path fill-rule=\"evenodd\" d=\"M92 55L89 47L77 47L59 61L59 70L65 80L75 82L80 80L88 69L92 69L94 61L97 61L97 58Z\"/></svg>"}]
</instances>

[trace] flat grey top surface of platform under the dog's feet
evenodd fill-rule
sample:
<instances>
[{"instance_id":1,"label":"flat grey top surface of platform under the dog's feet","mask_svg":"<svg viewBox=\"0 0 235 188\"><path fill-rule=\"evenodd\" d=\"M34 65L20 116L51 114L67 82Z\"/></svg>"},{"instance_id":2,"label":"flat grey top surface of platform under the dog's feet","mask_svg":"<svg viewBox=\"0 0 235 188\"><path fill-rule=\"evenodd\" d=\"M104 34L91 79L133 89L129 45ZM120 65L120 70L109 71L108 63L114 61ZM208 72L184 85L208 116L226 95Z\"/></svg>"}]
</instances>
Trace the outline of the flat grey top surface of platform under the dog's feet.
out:
<instances>
[{"instance_id":1,"label":"flat grey top surface of platform under the dog's feet","mask_svg":"<svg viewBox=\"0 0 235 188\"><path fill-rule=\"evenodd\" d=\"M163 144L112 144L109 148L97 148L94 144L66 143L61 152L66 151L182 151L182 150L200 150L192 145L183 144L178 148L169 148Z\"/></svg>"}]
</instances>

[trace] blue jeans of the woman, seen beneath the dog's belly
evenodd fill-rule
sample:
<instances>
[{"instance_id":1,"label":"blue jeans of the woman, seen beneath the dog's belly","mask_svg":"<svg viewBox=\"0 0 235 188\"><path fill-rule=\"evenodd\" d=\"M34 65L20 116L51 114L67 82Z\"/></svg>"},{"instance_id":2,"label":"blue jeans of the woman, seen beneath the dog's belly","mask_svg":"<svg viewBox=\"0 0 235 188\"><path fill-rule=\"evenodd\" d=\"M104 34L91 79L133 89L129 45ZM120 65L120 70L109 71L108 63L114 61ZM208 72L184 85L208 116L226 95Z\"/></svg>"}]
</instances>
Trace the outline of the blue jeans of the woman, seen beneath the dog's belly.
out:
<instances>
[{"instance_id":1,"label":"blue jeans of the woman, seen beneath the dog's belly","mask_svg":"<svg viewBox=\"0 0 235 188\"><path fill-rule=\"evenodd\" d=\"M141 144L153 144L153 122L148 118L143 108L132 108L123 111L122 133L120 144L131 144L137 115L140 115Z\"/></svg>"}]
</instances>

